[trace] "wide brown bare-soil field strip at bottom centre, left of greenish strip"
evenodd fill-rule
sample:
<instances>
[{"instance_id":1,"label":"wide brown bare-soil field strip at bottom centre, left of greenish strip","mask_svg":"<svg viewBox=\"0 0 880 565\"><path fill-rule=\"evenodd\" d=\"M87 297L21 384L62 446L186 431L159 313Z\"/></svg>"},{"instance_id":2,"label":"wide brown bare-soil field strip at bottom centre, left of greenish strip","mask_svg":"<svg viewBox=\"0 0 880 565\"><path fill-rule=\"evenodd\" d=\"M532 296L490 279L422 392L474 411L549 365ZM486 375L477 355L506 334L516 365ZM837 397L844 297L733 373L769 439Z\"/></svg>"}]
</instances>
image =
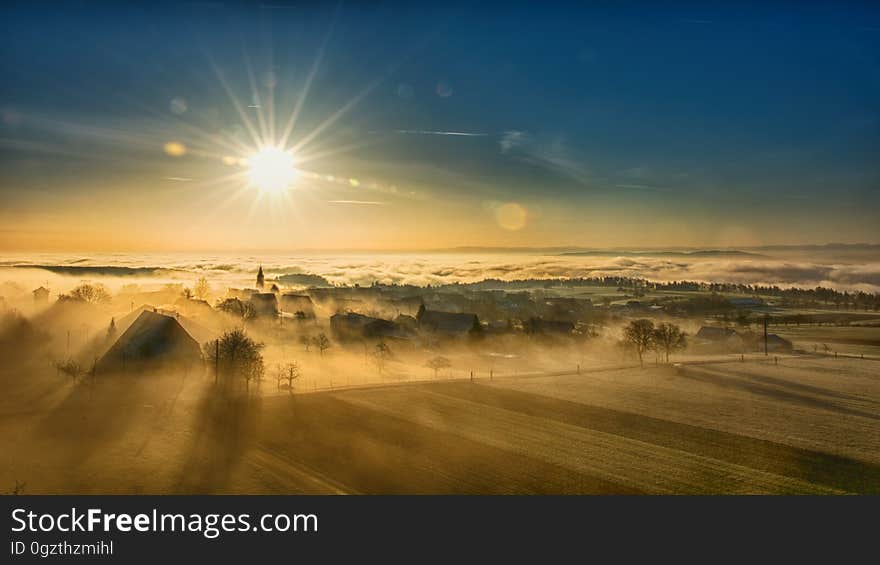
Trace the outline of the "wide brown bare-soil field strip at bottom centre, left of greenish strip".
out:
<instances>
[{"instance_id":1,"label":"wide brown bare-soil field strip at bottom centre, left of greenish strip","mask_svg":"<svg viewBox=\"0 0 880 565\"><path fill-rule=\"evenodd\" d=\"M363 493L638 494L538 458L321 393L267 401L266 450ZM269 406L271 405L271 407Z\"/></svg>"}]
</instances>

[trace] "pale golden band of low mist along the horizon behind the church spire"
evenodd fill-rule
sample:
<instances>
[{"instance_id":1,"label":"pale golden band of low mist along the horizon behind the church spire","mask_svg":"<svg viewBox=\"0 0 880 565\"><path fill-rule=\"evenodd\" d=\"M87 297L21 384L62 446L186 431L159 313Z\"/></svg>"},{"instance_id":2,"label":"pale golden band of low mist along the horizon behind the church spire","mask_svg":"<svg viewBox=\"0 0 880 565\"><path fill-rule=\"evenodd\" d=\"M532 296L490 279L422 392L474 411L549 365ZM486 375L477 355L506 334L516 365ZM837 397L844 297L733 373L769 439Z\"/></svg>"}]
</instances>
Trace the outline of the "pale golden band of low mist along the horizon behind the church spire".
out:
<instances>
[{"instance_id":1,"label":"pale golden band of low mist along the horizon behind the church spire","mask_svg":"<svg viewBox=\"0 0 880 565\"><path fill-rule=\"evenodd\" d=\"M14 255L0 263L0 281L63 290L82 279L111 288L137 282L187 283L205 276L220 288L247 286L259 265L267 275L316 275L303 284L443 285L483 279L625 276L658 282L689 280L779 286L880 290L876 246L767 248L730 251L587 254L523 253L303 253ZM39 266L42 268L27 268ZM0 294L2 295L2 294Z\"/></svg>"}]
</instances>

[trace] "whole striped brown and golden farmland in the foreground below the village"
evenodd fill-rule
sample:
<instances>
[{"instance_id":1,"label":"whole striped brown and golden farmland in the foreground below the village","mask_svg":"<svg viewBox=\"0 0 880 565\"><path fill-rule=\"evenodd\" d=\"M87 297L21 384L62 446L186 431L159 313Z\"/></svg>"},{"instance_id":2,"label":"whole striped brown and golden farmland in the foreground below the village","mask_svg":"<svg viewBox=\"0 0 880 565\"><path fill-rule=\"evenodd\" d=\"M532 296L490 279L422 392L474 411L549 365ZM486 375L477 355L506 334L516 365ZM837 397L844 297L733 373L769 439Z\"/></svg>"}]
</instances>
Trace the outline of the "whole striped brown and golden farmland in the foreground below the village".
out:
<instances>
[{"instance_id":1,"label":"whole striped brown and golden farmland in the foreground below the village","mask_svg":"<svg viewBox=\"0 0 880 565\"><path fill-rule=\"evenodd\" d=\"M210 390L201 375L91 387L34 378L0 405L0 451L12 454L0 484L25 483L27 493L880 492L880 362L869 359L694 359L249 399Z\"/></svg>"}]
</instances>

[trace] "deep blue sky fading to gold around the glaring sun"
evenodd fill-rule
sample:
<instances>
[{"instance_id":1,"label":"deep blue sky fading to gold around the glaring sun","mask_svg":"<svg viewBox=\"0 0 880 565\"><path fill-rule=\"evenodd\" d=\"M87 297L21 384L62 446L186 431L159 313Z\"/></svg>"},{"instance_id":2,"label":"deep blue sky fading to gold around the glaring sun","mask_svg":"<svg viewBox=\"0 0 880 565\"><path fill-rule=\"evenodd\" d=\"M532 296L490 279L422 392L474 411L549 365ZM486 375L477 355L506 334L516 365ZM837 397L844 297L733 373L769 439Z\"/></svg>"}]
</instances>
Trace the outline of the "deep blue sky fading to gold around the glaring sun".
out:
<instances>
[{"instance_id":1,"label":"deep blue sky fading to gold around the glaring sun","mask_svg":"<svg viewBox=\"0 0 880 565\"><path fill-rule=\"evenodd\" d=\"M292 206L300 220L357 222L345 237L376 233L388 246L403 235L389 217L421 215L400 229L430 229L413 239L424 245L880 241L880 10L870 3L304 4L4 8L4 233L38 245L27 234L52 218L59 233L76 230L66 211L89 198L113 215L132 193L152 194L151 182L161 191L168 178L222 177L209 155L161 151L163 140L195 147L194 130L247 141L211 61L243 106L266 112L272 82L282 129L324 44L292 142L345 109L303 146L313 157L303 167L361 182L304 186ZM367 185L374 193L361 194ZM173 187L188 205L190 186ZM505 203L528 221L494 225ZM432 216L466 225L441 237ZM104 233L96 215L88 222ZM307 239L260 224L281 246ZM626 233L609 235L616 226Z\"/></svg>"}]
</instances>

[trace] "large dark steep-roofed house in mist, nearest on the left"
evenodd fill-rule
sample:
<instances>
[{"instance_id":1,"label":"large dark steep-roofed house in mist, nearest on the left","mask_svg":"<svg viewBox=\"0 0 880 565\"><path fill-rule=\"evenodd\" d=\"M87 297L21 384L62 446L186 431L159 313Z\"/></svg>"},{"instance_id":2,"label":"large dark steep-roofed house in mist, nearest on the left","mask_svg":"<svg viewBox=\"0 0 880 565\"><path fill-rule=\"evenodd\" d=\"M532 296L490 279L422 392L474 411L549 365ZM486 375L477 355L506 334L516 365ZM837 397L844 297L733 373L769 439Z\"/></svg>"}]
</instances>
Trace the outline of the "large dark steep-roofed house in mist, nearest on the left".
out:
<instances>
[{"instance_id":1,"label":"large dark steep-roofed house in mist, nearest on the left","mask_svg":"<svg viewBox=\"0 0 880 565\"><path fill-rule=\"evenodd\" d=\"M198 342L175 316L144 310L98 360L99 373L192 367L202 359Z\"/></svg>"}]
</instances>

